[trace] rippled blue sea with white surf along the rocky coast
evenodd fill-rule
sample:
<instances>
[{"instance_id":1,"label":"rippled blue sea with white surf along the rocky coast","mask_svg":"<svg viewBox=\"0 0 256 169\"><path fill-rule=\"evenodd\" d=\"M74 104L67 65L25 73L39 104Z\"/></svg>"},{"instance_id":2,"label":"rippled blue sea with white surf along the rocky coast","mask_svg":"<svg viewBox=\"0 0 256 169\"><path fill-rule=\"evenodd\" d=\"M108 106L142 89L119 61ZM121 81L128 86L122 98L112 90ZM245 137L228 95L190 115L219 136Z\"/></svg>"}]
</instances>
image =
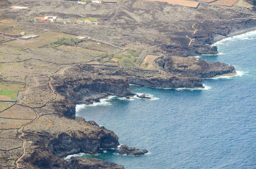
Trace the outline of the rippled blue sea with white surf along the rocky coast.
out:
<instances>
[{"instance_id":1,"label":"rippled blue sea with white surf along the rocky coast","mask_svg":"<svg viewBox=\"0 0 256 169\"><path fill-rule=\"evenodd\" d=\"M77 106L77 116L113 130L119 142L148 155L99 158L125 169L256 169L256 33L216 43L218 55L203 60L234 65L237 76L205 79L205 89L156 89L130 86L154 100L109 97ZM68 157L70 158L70 156ZM67 158L67 159L68 159Z\"/></svg>"}]
</instances>

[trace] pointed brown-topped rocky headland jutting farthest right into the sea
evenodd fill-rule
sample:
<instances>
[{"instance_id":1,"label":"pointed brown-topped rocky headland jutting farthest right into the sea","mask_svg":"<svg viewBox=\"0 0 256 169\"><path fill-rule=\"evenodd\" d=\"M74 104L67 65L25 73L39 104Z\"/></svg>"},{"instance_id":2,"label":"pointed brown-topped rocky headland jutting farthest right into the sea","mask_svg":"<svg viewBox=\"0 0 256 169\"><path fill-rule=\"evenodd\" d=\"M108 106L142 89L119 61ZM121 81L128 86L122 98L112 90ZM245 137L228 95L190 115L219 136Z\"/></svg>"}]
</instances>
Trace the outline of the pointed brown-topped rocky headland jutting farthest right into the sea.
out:
<instances>
[{"instance_id":1,"label":"pointed brown-topped rocky headland jutting farthest right into the sea","mask_svg":"<svg viewBox=\"0 0 256 169\"><path fill-rule=\"evenodd\" d=\"M236 74L234 66L196 58L164 57L158 60L157 64L172 73L190 74L201 78L210 78L222 74Z\"/></svg>"}]
</instances>

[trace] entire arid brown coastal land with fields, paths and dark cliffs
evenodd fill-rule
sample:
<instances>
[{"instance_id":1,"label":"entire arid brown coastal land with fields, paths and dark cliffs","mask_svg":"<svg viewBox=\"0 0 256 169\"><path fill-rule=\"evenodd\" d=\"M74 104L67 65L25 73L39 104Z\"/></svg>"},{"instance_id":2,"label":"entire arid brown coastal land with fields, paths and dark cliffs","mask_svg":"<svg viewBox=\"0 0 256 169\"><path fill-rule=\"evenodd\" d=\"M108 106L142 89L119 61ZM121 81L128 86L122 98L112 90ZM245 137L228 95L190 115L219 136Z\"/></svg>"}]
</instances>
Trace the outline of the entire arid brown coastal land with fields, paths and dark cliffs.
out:
<instances>
[{"instance_id":1,"label":"entire arid brown coastal land with fields, paths and dark cliffs","mask_svg":"<svg viewBox=\"0 0 256 169\"><path fill-rule=\"evenodd\" d=\"M0 95L0 168L123 169L64 160L119 145L113 131L76 117L76 104L134 95L129 84L203 88L203 78L235 75L234 66L193 56L218 54L215 41L255 30L255 2L196 2L197 8L147 0L0 0L0 90L13 91ZM36 18L45 16L62 21ZM97 24L68 23L72 18Z\"/></svg>"}]
</instances>

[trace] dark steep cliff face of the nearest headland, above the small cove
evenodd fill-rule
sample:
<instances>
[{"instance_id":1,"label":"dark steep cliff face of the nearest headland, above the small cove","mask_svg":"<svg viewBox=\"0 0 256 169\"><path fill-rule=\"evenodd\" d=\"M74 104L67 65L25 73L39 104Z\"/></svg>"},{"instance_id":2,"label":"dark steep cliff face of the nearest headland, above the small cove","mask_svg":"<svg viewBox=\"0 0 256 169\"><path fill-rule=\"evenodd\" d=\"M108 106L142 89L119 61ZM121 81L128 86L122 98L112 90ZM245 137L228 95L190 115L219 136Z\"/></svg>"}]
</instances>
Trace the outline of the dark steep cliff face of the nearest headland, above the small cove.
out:
<instances>
[{"instance_id":1,"label":"dark steep cliff face of the nearest headland, above the small cove","mask_svg":"<svg viewBox=\"0 0 256 169\"><path fill-rule=\"evenodd\" d=\"M81 131L80 138L75 137L76 134L60 133L57 138L50 141L52 153L58 157L80 152L97 154L99 148L109 149L119 145L118 137L112 131L99 127L94 121L88 123L96 126L98 131L91 133L89 137Z\"/></svg>"}]
</instances>

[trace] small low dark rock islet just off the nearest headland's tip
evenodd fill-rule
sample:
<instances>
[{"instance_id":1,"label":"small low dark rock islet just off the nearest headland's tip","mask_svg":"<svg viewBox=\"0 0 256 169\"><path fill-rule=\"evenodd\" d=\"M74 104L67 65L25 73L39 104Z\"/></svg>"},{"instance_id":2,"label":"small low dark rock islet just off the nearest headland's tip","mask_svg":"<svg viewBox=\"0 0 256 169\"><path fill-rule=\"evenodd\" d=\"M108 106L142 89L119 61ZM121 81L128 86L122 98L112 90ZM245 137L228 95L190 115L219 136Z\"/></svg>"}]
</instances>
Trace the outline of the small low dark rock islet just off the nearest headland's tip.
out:
<instances>
[{"instance_id":1,"label":"small low dark rock islet just off the nearest headland's tip","mask_svg":"<svg viewBox=\"0 0 256 169\"><path fill-rule=\"evenodd\" d=\"M128 147L126 145L122 145L119 149L116 149L116 153L121 155L145 155L148 153L146 149L136 149L135 147Z\"/></svg>"}]
</instances>

